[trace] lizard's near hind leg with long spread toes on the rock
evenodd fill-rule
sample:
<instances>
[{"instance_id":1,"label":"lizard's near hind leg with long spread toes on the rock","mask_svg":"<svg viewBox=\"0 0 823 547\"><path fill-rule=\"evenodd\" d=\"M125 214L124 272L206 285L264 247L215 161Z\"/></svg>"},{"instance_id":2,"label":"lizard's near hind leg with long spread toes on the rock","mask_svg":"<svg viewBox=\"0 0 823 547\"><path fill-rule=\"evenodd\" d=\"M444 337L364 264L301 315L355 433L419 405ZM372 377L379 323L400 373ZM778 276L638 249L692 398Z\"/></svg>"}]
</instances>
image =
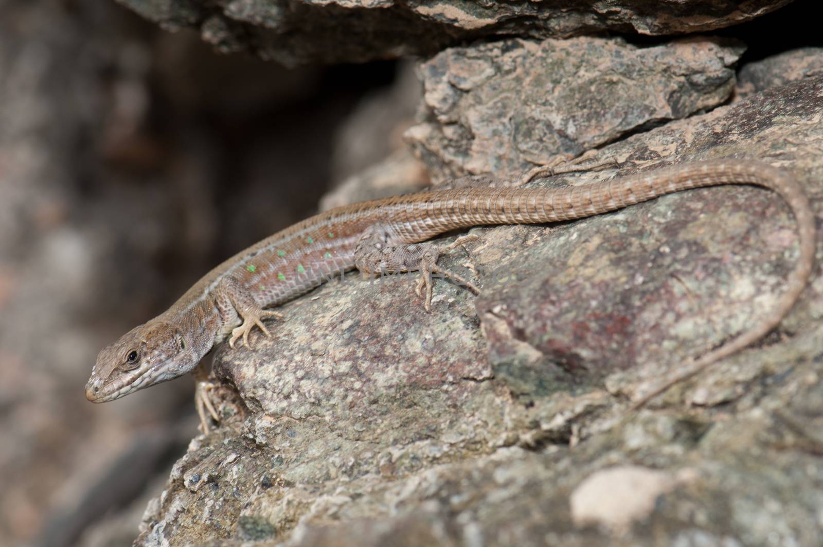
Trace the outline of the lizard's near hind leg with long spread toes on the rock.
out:
<instances>
[{"instance_id":1,"label":"lizard's near hind leg with long spread toes on the rock","mask_svg":"<svg viewBox=\"0 0 823 547\"><path fill-rule=\"evenodd\" d=\"M370 275L419 271L421 277L417 281L415 292L423 298L425 311L431 309L431 293L434 286L432 274L443 275L444 278L465 285L476 294L480 292L480 289L467 279L439 269L439 255L440 251L434 243L391 245L390 231L375 225L363 234L357 244L355 266L363 274Z\"/></svg>"}]
</instances>

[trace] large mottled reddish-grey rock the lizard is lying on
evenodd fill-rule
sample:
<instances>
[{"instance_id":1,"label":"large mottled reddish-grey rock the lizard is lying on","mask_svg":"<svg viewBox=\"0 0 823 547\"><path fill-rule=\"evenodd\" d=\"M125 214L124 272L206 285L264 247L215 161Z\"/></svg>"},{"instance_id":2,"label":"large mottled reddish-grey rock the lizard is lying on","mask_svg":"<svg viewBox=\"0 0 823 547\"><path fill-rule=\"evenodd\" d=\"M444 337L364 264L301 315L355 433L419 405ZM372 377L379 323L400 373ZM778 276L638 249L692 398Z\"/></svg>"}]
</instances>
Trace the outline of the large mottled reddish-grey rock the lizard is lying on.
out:
<instances>
[{"instance_id":1,"label":"large mottled reddish-grey rock the lizard is lying on","mask_svg":"<svg viewBox=\"0 0 823 547\"><path fill-rule=\"evenodd\" d=\"M807 77L535 184L750 157L793 171L820 224L821 146L823 77ZM239 395L221 388L221 428L175 465L136 545L816 545L819 266L779 332L621 419L779 295L797 250L774 194L472 232L443 264L471 261L480 297L440 282L426 313L412 276L351 274L283 306L272 339L223 348Z\"/></svg>"}]
</instances>

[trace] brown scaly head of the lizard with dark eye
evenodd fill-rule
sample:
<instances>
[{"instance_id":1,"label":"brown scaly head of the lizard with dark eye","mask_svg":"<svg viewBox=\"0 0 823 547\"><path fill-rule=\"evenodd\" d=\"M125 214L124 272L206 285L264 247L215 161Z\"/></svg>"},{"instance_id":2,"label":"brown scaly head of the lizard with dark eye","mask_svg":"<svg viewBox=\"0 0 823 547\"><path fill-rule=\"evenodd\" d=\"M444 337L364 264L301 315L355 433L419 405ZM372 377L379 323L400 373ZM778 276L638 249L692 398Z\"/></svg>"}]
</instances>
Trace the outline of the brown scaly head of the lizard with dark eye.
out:
<instances>
[{"instance_id":1,"label":"brown scaly head of the lizard with dark eye","mask_svg":"<svg viewBox=\"0 0 823 547\"><path fill-rule=\"evenodd\" d=\"M86 399L105 403L191 371L211 344L202 351L185 331L156 318L123 334L97 355Z\"/></svg>"}]
</instances>

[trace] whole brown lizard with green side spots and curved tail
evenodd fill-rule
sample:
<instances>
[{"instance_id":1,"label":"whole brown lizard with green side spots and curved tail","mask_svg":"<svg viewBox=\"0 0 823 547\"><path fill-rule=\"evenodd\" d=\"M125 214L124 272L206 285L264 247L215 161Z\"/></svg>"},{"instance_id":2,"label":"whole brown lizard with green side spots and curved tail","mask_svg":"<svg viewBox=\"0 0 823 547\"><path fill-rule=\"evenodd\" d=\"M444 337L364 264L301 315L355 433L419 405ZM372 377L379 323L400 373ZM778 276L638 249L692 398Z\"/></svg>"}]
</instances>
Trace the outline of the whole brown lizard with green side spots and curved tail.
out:
<instances>
[{"instance_id":1,"label":"whole brown lizard with green side spots and curved tail","mask_svg":"<svg viewBox=\"0 0 823 547\"><path fill-rule=\"evenodd\" d=\"M542 171L523 177L528 182ZM641 397L637 408L712 363L753 344L773 330L806 287L815 255L815 218L802 185L786 171L748 160L695 161L642 171L618 179L563 188L435 189L332 208L278 231L204 275L177 302L100 351L86 384L95 403L119 399L192 372L216 344L230 347L266 319L267 309L318 287L336 273L364 275L420 272L416 292L430 311L432 274L465 283L439 269L439 247L428 240L447 231L496 224L534 224L591 217L681 190L714 185L758 185L788 203L797 222L799 254L787 287L756 325L692 360L670 381ZM206 410L217 420L206 391L195 400L202 428Z\"/></svg>"}]
</instances>

